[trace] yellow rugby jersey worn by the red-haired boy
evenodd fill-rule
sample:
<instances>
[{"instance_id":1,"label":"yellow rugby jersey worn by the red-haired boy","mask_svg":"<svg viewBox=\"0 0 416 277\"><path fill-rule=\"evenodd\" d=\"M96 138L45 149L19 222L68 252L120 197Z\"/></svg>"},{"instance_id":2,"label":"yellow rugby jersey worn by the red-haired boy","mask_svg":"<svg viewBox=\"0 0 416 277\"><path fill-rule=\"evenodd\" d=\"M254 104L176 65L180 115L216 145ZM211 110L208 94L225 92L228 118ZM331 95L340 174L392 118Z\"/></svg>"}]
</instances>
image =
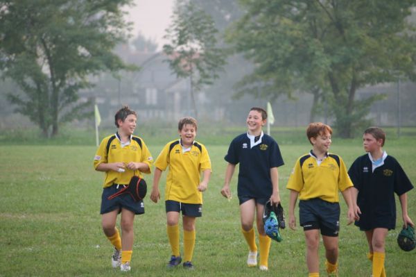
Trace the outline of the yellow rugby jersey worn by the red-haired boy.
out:
<instances>
[{"instance_id":1,"label":"yellow rugby jersey worn by the red-haired boy","mask_svg":"<svg viewBox=\"0 0 416 277\"><path fill-rule=\"evenodd\" d=\"M318 165L311 154L306 154L297 159L286 188L299 192L300 200L320 198L338 203L338 190L343 192L352 186L347 168L340 156L329 154Z\"/></svg>"}]
</instances>

